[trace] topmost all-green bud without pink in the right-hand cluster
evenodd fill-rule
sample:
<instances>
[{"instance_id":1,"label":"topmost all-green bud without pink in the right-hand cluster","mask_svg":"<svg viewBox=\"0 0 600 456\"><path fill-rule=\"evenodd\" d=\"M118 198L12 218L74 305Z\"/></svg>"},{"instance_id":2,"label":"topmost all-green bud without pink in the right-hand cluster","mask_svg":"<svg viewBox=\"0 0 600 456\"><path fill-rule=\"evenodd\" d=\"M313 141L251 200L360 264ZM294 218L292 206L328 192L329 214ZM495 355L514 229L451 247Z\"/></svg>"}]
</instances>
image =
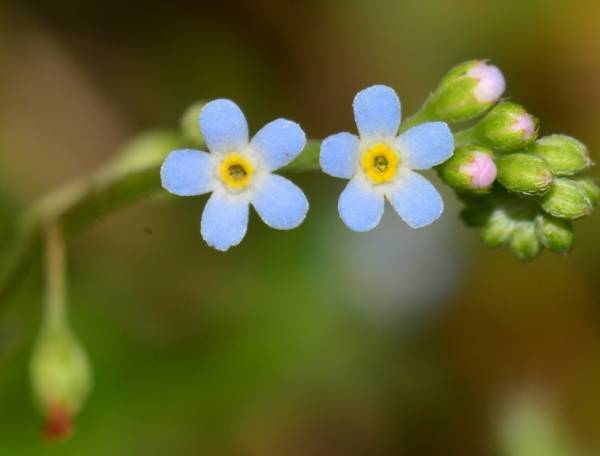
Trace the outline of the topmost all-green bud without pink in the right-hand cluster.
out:
<instances>
[{"instance_id":1,"label":"topmost all-green bud without pink in the right-hand cluster","mask_svg":"<svg viewBox=\"0 0 600 456\"><path fill-rule=\"evenodd\" d=\"M533 143L530 151L546 160L555 176L571 176L592 164L587 147L565 135L540 138Z\"/></svg>"}]
</instances>

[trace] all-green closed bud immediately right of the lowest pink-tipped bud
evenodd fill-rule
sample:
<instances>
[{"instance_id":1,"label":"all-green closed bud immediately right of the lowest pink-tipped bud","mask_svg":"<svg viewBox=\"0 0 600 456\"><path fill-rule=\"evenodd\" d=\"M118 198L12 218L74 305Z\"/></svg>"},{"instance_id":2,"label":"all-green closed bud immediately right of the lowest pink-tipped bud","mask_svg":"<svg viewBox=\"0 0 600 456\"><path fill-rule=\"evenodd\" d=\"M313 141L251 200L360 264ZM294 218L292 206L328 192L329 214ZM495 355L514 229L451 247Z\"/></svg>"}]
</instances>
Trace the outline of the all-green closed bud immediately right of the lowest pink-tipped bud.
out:
<instances>
[{"instance_id":1,"label":"all-green closed bud immediately right of the lowest pink-tipped bud","mask_svg":"<svg viewBox=\"0 0 600 456\"><path fill-rule=\"evenodd\" d=\"M496 160L498 182L507 190L522 195L546 192L552 183L548 163L527 153L503 155Z\"/></svg>"}]
</instances>

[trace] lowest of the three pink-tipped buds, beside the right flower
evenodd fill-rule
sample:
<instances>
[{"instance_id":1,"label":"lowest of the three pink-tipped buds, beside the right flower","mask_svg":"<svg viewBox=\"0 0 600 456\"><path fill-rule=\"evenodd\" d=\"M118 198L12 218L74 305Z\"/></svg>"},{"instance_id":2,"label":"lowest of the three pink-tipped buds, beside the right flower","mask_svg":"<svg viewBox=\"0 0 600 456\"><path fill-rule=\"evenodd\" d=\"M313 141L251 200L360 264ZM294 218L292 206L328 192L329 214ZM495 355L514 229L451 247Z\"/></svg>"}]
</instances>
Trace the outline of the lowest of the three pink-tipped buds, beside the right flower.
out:
<instances>
[{"instance_id":1,"label":"lowest of the three pink-tipped buds, beside the right flower","mask_svg":"<svg viewBox=\"0 0 600 456\"><path fill-rule=\"evenodd\" d=\"M438 167L444 182L458 191L486 193L496 179L494 152L483 146L466 145Z\"/></svg>"}]
</instances>

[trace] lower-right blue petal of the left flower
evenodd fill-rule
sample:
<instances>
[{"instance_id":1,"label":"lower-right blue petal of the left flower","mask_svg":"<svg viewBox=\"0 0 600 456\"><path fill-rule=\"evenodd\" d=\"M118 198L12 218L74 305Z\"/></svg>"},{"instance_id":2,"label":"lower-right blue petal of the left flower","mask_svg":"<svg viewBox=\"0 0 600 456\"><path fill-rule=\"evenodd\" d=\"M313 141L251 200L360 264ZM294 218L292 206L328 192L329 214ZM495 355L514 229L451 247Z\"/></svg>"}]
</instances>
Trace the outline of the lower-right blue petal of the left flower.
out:
<instances>
[{"instance_id":1,"label":"lower-right blue petal of the left flower","mask_svg":"<svg viewBox=\"0 0 600 456\"><path fill-rule=\"evenodd\" d=\"M290 230L302 223L308 200L302 190L284 177L271 174L252 200L260 218L271 228Z\"/></svg>"}]
</instances>

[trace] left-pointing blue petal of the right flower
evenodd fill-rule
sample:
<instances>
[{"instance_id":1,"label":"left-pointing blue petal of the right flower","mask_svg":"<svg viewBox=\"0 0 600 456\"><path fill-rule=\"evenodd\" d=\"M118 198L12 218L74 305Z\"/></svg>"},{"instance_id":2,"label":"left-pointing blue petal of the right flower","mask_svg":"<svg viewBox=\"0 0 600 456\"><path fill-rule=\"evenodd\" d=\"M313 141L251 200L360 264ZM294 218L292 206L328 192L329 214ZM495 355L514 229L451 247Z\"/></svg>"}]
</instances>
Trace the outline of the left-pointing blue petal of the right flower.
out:
<instances>
[{"instance_id":1,"label":"left-pointing blue petal of the right flower","mask_svg":"<svg viewBox=\"0 0 600 456\"><path fill-rule=\"evenodd\" d=\"M356 171L358 137L350 133L329 136L321 143L319 161L323 171L333 177L350 179Z\"/></svg>"}]
</instances>

